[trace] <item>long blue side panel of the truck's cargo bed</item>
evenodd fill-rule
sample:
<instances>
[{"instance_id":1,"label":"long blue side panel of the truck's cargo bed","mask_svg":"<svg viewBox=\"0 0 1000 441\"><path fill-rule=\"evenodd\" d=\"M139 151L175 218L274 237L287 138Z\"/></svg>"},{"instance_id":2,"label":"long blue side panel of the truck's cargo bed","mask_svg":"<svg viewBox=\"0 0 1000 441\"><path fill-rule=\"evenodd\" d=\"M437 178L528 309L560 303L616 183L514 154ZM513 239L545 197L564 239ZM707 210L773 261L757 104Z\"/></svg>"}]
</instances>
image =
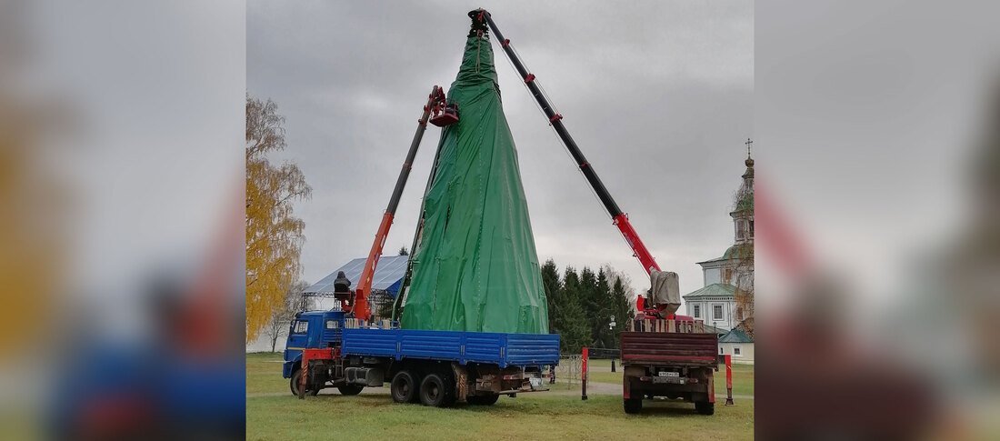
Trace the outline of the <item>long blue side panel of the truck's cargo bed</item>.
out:
<instances>
[{"instance_id":1,"label":"long blue side panel of the truck's cargo bed","mask_svg":"<svg viewBox=\"0 0 1000 441\"><path fill-rule=\"evenodd\" d=\"M559 363L555 334L344 329L344 355L490 363L500 367Z\"/></svg>"}]
</instances>

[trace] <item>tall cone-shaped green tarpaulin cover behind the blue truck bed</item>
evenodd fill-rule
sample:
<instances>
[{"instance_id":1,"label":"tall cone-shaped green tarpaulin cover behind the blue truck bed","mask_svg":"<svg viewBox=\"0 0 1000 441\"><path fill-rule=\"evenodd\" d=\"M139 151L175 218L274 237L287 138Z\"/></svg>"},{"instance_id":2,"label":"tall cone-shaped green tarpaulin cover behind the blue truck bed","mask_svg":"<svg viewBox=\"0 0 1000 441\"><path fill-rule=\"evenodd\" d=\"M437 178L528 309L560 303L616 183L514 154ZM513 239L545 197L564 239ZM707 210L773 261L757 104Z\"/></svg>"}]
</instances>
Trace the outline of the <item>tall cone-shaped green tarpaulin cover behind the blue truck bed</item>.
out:
<instances>
[{"instance_id":1,"label":"tall cone-shaped green tarpaulin cover behind the blue truck bed","mask_svg":"<svg viewBox=\"0 0 1000 441\"><path fill-rule=\"evenodd\" d=\"M488 37L469 37L448 99L458 103L460 120L441 135L402 327L547 334L538 254Z\"/></svg>"}]
</instances>

